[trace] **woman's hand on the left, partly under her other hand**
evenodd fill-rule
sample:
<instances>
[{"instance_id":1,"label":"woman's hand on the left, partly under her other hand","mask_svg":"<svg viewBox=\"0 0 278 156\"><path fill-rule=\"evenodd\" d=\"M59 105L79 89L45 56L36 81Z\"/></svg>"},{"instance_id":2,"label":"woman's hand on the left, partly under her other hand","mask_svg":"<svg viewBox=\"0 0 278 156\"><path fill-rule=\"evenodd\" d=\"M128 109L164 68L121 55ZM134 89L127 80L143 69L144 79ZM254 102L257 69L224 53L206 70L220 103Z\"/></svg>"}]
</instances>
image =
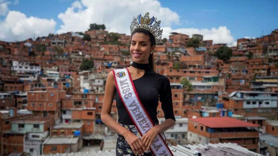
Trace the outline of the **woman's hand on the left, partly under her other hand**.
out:
<instances>
[{"instance_id":1,"label":"woman's hand on the left, partly under her other hand","mask_svg":"<svg viewBox=\"0 0 278 156\"><path fill-rule=\"evenodd\" d=\"M123 135L123 137L126 139L126 142L131 147L133 153L135 155L144 155L144 151L146 150L146 147L144 146L143 142L140 138L138 138L136 135L128 131L126 135Z\"/></svg>"}]
</instances>

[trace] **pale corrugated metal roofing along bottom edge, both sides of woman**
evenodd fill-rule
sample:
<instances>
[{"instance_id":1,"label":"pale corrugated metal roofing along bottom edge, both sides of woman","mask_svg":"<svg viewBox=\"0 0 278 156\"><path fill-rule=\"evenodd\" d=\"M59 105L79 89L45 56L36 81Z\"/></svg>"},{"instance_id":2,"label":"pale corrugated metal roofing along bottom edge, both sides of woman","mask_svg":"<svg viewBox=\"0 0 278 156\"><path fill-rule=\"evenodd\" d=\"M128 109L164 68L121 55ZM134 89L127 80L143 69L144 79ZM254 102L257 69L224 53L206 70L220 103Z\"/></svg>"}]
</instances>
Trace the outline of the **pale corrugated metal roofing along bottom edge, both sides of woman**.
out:
<instances>
[{"instance_id":1,"label":"pale corrugated metal roofing along bottom edge, both sides of woman","mask_svg":"<svg viewBox=\"0 0 278 156\"><path fill-rule=\"evenodd\" d=\"M247 148L241 147L235 143L219 143L219 144L198 144L198 145L177 145L169 146L174 156L262 156L259 153L249 151ZM116 150L104 151L88 151L75 153L56 153L43 156L115 156Z\"/></svg>"}]
</instances>

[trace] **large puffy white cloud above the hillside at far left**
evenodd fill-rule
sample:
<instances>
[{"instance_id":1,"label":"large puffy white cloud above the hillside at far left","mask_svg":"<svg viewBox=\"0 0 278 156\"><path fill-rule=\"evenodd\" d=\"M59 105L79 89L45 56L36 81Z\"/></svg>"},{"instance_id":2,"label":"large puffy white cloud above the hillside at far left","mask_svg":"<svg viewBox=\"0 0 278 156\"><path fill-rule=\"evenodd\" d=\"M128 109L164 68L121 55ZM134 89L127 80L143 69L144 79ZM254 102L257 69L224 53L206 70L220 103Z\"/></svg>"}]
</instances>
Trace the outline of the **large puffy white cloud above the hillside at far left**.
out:
<instances>
[{"instance_id":1,"label":"large puffy white cloud above the hillside at far left","mask_svg":"<svg viewBox=\"0 0 278 156\"><path fill-rule=\"evenodd\" d=\"M0 39L14 41L14 36L19 40L26 40L37 36L47 36L54 33L56 22L53 19L26 17L18 11L9 11L4 21L0 21Z\"/></svg>"}]
</instances>

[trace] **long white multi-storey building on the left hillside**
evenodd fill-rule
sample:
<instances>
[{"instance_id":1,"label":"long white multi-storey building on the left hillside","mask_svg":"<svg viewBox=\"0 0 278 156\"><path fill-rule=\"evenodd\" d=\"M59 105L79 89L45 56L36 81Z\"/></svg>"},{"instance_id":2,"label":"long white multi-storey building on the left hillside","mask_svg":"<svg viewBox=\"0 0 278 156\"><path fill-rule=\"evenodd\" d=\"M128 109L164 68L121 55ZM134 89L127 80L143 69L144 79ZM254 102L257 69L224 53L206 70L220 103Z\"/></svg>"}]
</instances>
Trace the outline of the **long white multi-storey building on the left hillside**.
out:
<instances>
[{"instance_id":1,"label":"long white multi-storey building on the left hillside","mask_svg":"<svg viewBox=\"0 0 278 156\"><path fill-rule=\"evenodd\" d=\"M39 74L41 67L36 63L12 61L11 70L15 73L35 73Z\"/></svg>"}]
</instances>

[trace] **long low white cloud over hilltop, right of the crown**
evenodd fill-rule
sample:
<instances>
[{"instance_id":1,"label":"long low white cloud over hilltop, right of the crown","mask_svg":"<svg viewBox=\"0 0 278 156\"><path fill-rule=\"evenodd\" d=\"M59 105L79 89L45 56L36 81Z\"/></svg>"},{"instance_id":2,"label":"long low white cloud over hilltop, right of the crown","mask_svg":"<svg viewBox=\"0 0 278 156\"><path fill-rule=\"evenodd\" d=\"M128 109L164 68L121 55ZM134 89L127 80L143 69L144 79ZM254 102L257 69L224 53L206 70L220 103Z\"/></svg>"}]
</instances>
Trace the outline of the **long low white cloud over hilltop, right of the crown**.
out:
<instances>
[{"instance_id":1,"label":"long low white cloud over hilltop, right of the crown","mask_svg":"<svg viewBox=\"0 0 278 156\"><path fill-rule=\"evenodd\" d=\"M162 38L169 38L171 32L177 32L181 34L189 35L192 37L192 34L201 34L203 35L203 40L213 40L213 43L227 43L232 45L234 38L231 35L230 30L225 26L220 26L218 28L211 29L197 29L197 28L179 28L172 29L171 27L163 27Z\"/></svg>"}]
</instances>

